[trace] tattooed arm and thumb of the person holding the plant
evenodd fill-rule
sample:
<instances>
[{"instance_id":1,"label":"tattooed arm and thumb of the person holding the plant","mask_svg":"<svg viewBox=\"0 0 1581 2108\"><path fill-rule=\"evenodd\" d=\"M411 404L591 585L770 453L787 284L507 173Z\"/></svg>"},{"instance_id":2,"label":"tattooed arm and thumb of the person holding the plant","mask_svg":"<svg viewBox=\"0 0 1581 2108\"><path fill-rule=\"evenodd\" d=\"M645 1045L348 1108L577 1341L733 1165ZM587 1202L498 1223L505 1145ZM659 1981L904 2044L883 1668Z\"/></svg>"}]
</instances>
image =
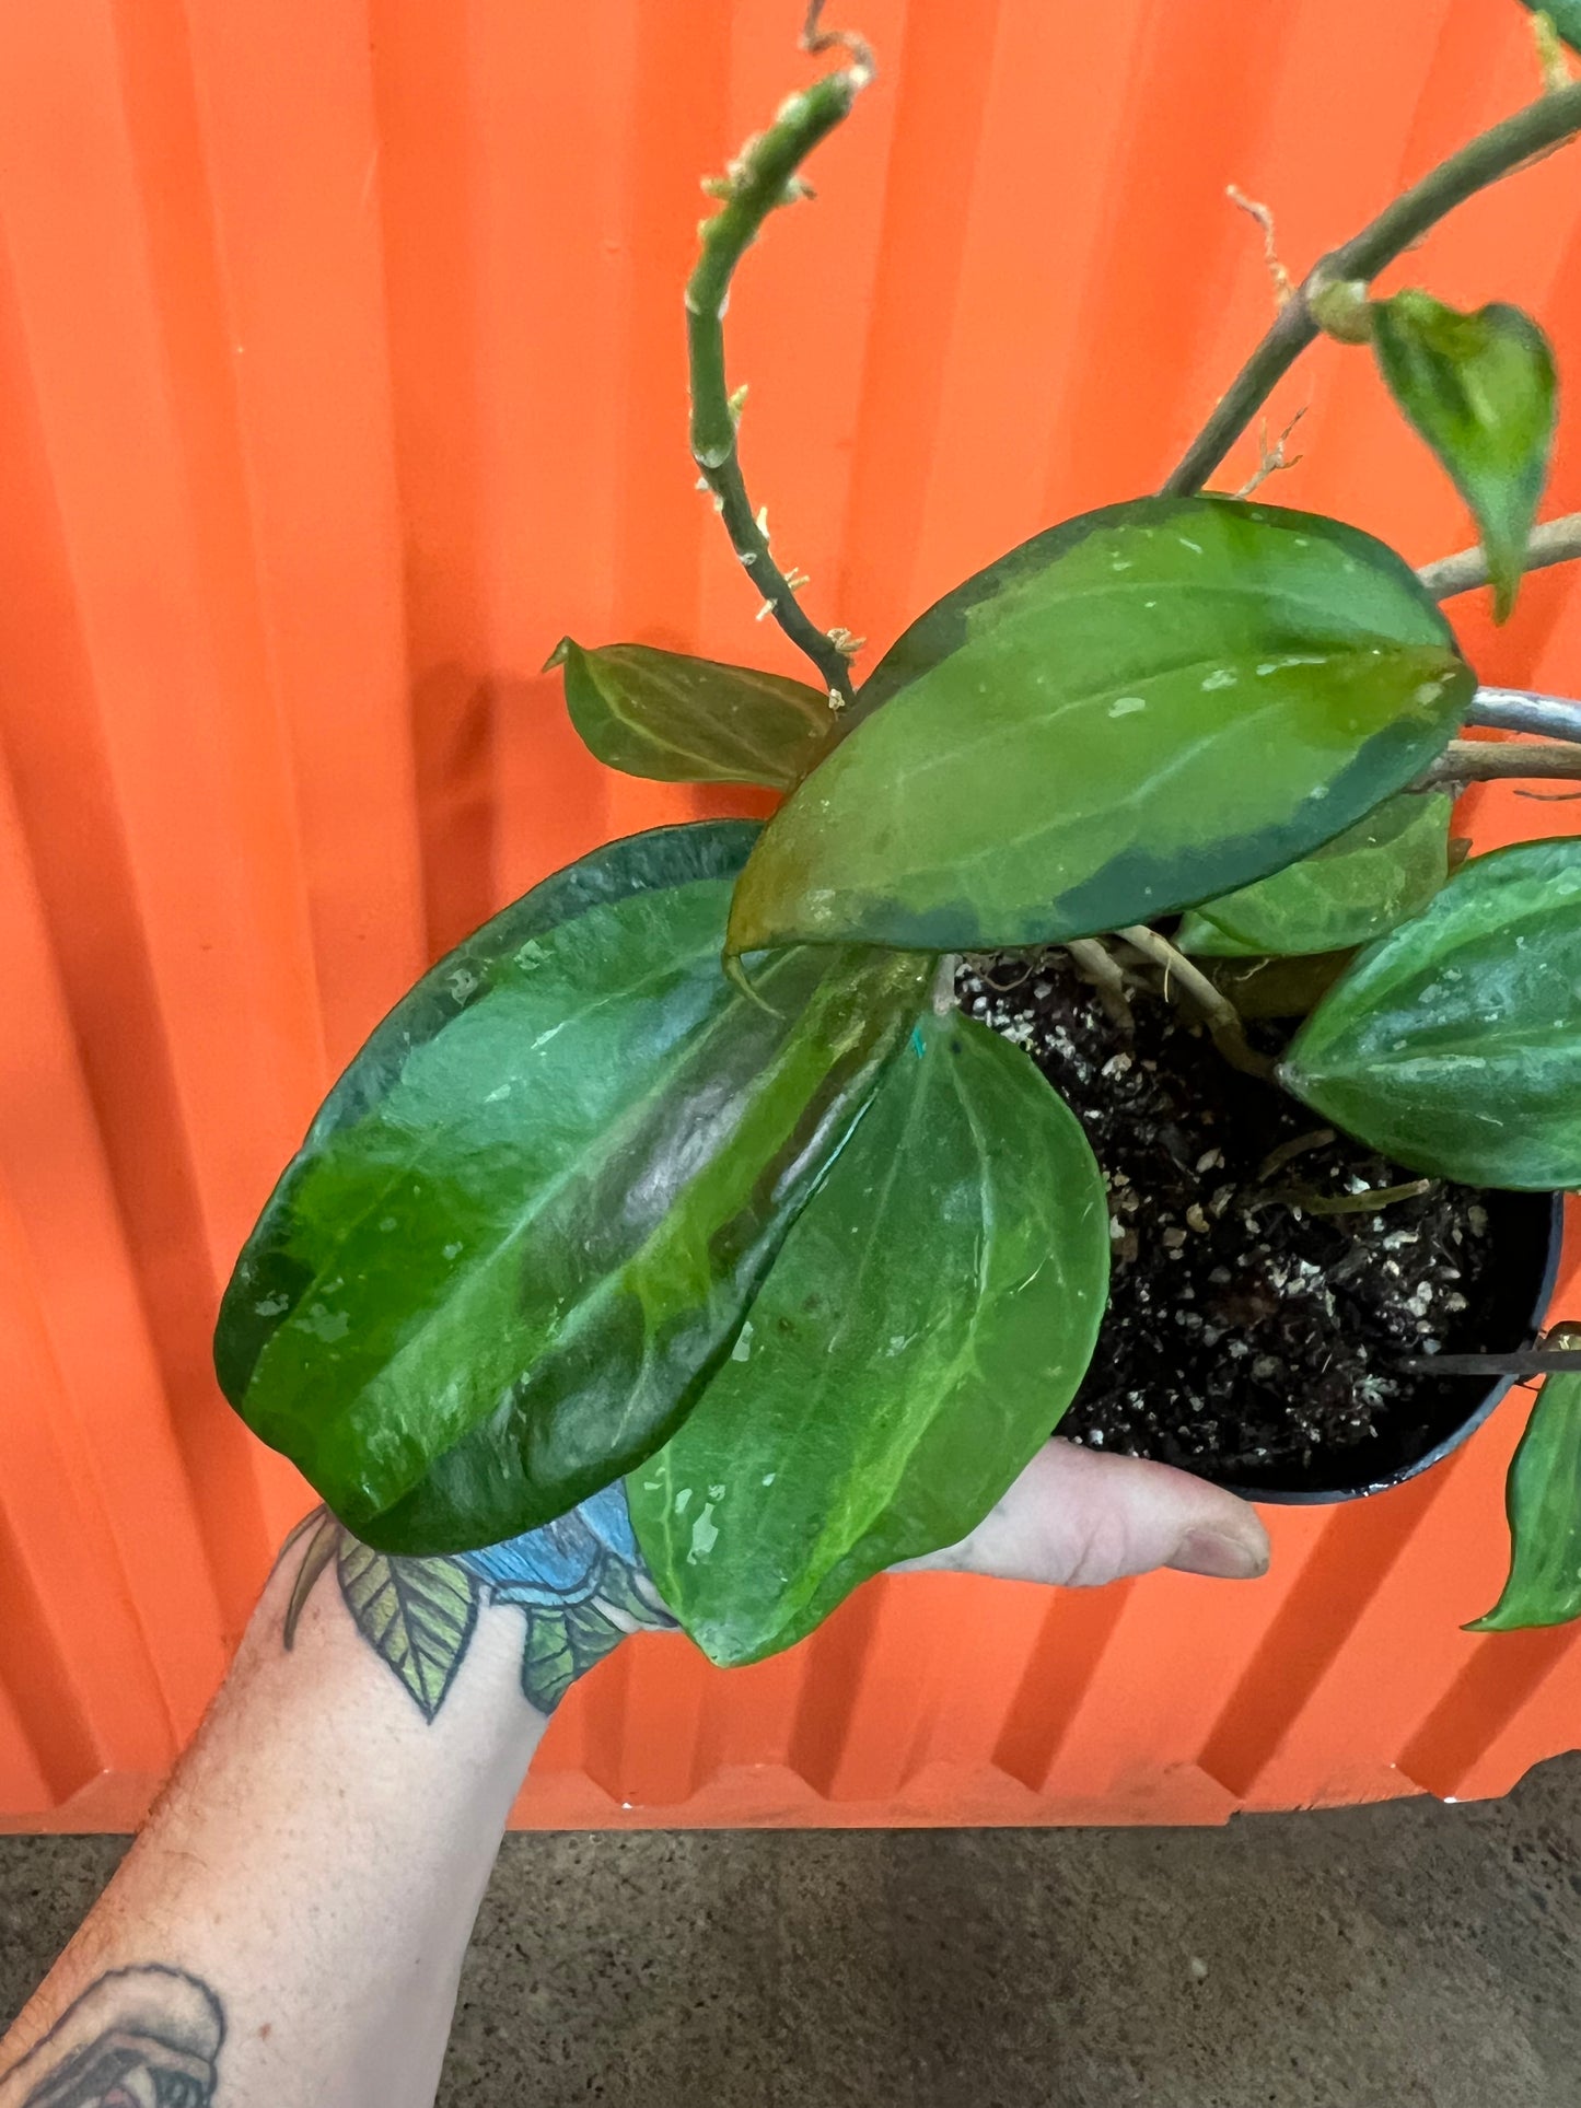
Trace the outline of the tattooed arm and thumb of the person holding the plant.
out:
<instances>
[{"instance_id":1,"label":"tattooed arm and thumb of the person holding the plant","mask_svg":"<svg viewBox=\"0 0 1581 2108\"><path fill-rule=\"evenodd\" d=\"M1252 1577L1267 1537L1183 1471L1050 1442L970 1539L917 1564ZM314 1522L148 1830L0 2043L0 2108L428 2108L544 1718L622 1634L668 1623L620 1486L457 1560L379 1560Z\"/></svg>"}]
</instances>

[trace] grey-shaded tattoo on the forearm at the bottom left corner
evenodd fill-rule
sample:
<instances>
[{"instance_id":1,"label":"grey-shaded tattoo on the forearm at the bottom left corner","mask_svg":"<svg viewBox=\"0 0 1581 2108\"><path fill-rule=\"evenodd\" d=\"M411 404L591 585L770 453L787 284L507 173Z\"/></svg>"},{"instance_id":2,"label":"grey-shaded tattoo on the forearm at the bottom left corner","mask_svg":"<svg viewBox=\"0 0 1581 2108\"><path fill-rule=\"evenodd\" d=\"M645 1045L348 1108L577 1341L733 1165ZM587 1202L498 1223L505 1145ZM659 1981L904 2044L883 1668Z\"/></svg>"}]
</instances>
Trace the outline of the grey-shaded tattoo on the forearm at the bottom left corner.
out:
<instances>
[{"instance_id":1,"label":"grey-shaded tattoo on the forearm at the bottom left corner","mask_svg":"<svg viewBox=\"0 0 1581 2108\"><path fill-rule=\"evenodd\" d=\"M223 2007L198 1977L112 1969L0 2076L0 2108L207 2108L223 2041Z\"/></svg>"}]
</instances>

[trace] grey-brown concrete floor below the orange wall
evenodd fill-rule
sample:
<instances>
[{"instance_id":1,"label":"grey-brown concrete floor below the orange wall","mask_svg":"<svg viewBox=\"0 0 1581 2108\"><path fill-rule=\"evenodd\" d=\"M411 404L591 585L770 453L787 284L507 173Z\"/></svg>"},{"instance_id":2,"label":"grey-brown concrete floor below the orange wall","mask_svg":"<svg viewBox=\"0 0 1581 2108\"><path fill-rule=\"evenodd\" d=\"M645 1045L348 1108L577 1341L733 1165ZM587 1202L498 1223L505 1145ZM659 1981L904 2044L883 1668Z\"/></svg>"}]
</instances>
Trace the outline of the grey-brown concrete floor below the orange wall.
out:
<instances>
[{"instance_id":1,"label":"grey-brown concrete floor below the orange wall","mask_svg":"<svg viewBox=\"0 0 1581 2108\"><path fill-rule=\"evenodd\" d=\"M122 1851L0 1838L0 2024ZM1581 1756L1208 1830L514 1836L445 2108L1575 2108Z\"/></svg>"}]
</instances>

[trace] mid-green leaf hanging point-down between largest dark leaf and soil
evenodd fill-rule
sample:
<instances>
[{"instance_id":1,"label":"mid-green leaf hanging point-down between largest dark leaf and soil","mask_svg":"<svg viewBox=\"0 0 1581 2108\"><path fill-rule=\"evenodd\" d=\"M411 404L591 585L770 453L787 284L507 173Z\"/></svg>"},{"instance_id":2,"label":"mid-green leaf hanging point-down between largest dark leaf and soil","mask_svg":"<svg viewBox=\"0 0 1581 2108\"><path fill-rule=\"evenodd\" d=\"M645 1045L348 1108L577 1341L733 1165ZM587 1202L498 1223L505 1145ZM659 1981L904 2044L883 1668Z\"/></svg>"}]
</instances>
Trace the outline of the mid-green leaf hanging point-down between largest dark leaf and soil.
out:
<instances>
[{"instance_id":1,"label":"mid-green leaf hanging point-down between largest dark leaf and soil","mask_svg":"<svg viewBox=\"0 0 1581 2108\"><path fill-rule=\"evenodd\" d=\"M1109 1208L1031 1060L928 1018L677 1436L630 1473L649 1570L723 1663L965 1537L1092 1355Z\"/></svg>"}]
</instances>

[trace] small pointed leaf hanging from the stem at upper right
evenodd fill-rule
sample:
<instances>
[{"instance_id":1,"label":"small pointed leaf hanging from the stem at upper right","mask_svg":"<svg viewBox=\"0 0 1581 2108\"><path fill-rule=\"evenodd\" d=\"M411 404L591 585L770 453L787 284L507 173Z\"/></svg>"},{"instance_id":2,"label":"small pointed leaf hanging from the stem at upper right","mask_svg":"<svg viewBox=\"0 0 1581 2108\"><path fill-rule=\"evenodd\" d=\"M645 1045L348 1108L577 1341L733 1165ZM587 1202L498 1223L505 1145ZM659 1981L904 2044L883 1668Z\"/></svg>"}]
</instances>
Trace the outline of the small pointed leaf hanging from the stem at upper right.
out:
<instances>
[{"instance_id":1,"label":"small pointed leaf hanging from the stem at upper right","mask_svg":"<svg viewBox=\"0 0 1581 2108\"><path fill-rule=\"evenodd\" d=\"M1406 291L1372 301L1372 350L1395 403L1476 514L1492 613L1503 622L1554 443L1549 341L1503 301L1461 314L1431 293Z\"/></svg>"}]
</instances>

